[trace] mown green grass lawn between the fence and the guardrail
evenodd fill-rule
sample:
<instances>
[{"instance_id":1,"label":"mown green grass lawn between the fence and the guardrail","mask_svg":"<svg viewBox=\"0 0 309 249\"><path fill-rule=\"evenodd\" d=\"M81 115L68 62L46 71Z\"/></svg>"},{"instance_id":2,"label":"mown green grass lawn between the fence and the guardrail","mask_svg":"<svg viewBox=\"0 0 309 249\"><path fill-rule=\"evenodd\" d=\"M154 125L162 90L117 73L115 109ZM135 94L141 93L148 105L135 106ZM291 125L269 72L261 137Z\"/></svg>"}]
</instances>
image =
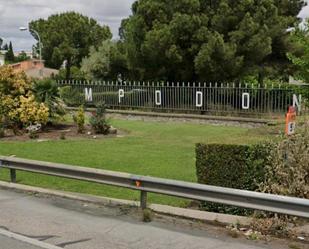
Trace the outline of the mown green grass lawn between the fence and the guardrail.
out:
<instances>
[{"instance_id":1,"label":"mown green grass lawn between the fence and the guardrail","mask_svg":"<svg viewBox=\"0 0 309 249\"><path fill-rule=\"evenodd\" d=\"M102 140L0 142L0 155L195 182L196 143L252 144L270 137L262 128L125 120L111 123L128 135ZM0 171L0 179L9 179L6 170ZM24 172L17 172L17 180L21 184L114 198L139 197L139 193L127 189ZM188 203L160 195L150 195L149 200L177 206Z\"/></svg>"}]
</instances>

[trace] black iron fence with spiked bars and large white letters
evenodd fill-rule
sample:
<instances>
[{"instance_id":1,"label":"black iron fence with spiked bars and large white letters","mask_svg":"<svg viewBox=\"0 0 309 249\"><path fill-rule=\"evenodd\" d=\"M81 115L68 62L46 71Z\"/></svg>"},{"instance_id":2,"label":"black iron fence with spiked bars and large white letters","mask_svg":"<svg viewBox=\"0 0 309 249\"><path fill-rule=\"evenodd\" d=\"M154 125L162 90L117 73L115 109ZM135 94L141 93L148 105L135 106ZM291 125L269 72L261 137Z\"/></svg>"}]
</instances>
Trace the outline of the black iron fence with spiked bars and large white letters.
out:
<instances>
[{"instance_id":1,"label":"black iron fence with spiked bars and large white letters","mask_svg":"<svg viewBox=\"0 0 309 249\"><path fill-rule=\"evenodd\" d=\"M105 102L110 109L243 116L282 115L289 106L295 106L299 114L309 113L308 96L297 88L282 86L104 81L57 83L69 106L95 106Z\"/></svg>"}]
</instances>

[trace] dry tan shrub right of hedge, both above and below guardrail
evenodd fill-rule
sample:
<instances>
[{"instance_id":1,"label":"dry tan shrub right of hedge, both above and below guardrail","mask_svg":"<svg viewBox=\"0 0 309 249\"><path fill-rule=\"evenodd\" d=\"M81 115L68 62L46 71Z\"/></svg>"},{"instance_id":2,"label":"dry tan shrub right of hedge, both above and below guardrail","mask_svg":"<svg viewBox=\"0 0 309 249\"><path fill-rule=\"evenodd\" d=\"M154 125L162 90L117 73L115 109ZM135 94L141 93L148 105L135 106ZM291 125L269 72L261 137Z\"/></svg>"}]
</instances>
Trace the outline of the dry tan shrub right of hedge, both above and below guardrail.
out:
<instances>
[{"instance_id":1,"label":"dry tan shrub right of hedge, both above and below guardrail","mask_svg":"<svg viewBox=\"0 0 309 249\"><path fill-rule=\"evenodd\" d=\"M309 123L298 128L297 134L284 136L272 144L264 171L259 191L309 198ZM268 212L258 212L257 215L251 225L262 234L295 235L293 226L289 225L295 223L294 217Z\"/></svg>"}]
</instances>

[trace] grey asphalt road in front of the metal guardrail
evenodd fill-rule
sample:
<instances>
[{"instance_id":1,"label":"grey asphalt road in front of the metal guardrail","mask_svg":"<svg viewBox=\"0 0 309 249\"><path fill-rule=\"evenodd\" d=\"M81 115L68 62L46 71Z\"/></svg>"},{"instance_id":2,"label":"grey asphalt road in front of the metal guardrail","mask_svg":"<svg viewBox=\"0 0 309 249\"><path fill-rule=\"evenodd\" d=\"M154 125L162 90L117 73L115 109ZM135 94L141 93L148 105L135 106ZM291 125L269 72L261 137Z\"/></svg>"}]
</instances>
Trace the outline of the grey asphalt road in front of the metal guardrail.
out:
<instances>
[{"instance_id":1,"label":"grey asphalt road in front of the metal guardrail","mask_svg":"<svg viewBox=\"0 0 309 249\"><path fill-rule=\"evenodd\" d=\"M280 243L233 239L222 228L175 218L158 216L151 223L143 223L137 210L129 207L103 207L1 189L0 228L68 249L288 248ZM0 248L37 249L3 236Z\"/></svg>"}]
</instances>

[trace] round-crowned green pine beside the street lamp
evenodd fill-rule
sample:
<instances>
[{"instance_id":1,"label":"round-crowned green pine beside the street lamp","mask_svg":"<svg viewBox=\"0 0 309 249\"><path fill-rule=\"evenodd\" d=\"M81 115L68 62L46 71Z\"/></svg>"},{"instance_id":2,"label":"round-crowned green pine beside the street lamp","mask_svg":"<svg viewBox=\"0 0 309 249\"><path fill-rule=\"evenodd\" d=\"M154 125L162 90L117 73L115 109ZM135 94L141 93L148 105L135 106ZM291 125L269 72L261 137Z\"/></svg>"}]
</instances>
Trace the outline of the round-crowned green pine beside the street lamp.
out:
<instances>
[{"instance_id":1,"label":"round-crowned green pine beside the street lamp","mask_svg":"<svg viewBox=\"0 0 309 249\"><path fill-rule=\"evenodd\" d=\"M66 78L71 77L71 67L80 66L90 47L98 47L104 40L112 38L110 28L100 25L93 18L76 12L55 14L47 20L39 19L29 24L42 39L42 56L47 66L60 68L66 61ZM31 32L38 40L37 35Z\"/></svg>"}]
</instances>

